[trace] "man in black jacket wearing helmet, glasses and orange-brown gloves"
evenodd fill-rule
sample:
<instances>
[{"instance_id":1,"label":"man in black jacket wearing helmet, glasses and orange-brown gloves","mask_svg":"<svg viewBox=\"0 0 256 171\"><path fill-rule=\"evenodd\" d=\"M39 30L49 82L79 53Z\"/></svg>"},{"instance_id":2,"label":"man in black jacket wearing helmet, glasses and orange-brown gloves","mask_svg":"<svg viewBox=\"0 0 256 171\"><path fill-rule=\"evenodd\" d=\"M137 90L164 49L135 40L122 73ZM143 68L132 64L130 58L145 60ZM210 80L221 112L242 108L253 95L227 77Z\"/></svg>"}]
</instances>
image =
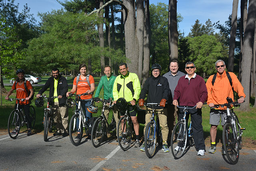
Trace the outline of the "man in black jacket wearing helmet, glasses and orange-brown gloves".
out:
<instances>
[{"instance_id":1,"label":"man in black jacket wearing helmet, glasses and orange-brown gloves","mask_svg":"<svg viewBox=\"0 0 256 171\"><path fill-rule=\"evenodd\" d=\"M152 76L148 78L143 85L143 89L140 92L139 105L144 105L144 99L146 94L148 94L147 102L148 103L160 103L160 106L155 106L155 111L158 113L159 123L162 131L162 139L163 146L162 150L164 152L169 152L167 146L167 137L168 137L168 126L167 126L167 108L166 108L166 100L170 95L170 88L167 78L160 76L161 66L159 64L153 64L151 67ZM146 116L145 116L145 127L150 122L150 117L152 117L152 109L150 107L146 108ZM144 135L145 136L145 135ZM145 145L140 149L141 151L145 151Z\"/></svg>"}]
</instances>

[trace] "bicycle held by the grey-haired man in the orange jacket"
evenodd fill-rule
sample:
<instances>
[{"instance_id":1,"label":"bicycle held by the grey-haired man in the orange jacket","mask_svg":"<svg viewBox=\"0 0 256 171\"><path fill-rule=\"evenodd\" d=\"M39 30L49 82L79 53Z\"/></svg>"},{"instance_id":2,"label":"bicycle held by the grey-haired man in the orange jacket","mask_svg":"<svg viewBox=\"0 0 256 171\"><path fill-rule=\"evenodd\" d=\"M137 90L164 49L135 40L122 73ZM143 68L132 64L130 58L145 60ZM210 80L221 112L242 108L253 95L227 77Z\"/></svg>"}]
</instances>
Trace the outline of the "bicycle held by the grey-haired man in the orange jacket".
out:
<instances>
[{"instance_id":1,"label":"bicycle held by the grey-haired man in the orange jacket","mask_svg":"<svg viewBox=\"0 0 256 171\"><path fill-rule=\"evenodd\" d=\"M222 105L214 105L214 107L224 107L227 109L227 117L222 131L223 148L231 164L236 164L239 159L239 150L242 149L242 134L245 128L240 126L238 117L233 111L233 106L240 105L237 101L233 102L230 97L227 97L228 103Z\"/></svg>"}]
</instances>

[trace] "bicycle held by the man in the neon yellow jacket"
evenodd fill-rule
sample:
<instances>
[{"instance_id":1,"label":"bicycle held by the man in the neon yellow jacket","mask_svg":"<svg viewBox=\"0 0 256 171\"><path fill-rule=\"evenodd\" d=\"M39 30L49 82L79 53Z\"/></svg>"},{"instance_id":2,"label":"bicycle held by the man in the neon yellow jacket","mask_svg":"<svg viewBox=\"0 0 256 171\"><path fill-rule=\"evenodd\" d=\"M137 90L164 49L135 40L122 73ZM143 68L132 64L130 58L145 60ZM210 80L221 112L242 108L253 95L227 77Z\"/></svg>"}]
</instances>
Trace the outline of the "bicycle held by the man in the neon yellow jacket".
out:
<instances>
[{"instance_id":1,"label":"bicycle held by the man in the neon yellow jacket","mask_svg":"<svg viewBox=\"0 0 256 171\"><path fill-rule=\"evenodd\" d=\"M118 145L121 147L123 151L126 151L129 149L132 139L135 137L135 132L133 128L132 119L130 116L130 112L128 109L128 105L131 103L130 101L126 102L126 107L124 109L124 116L122 116L118 121L118 128L122 128L121 137L118 138ZM120 111L120 109L119 109ZM120 111L122 112L122 111ZM117 129L117 135L119 134L119 129Z\"/></svg>"}]
</instances>

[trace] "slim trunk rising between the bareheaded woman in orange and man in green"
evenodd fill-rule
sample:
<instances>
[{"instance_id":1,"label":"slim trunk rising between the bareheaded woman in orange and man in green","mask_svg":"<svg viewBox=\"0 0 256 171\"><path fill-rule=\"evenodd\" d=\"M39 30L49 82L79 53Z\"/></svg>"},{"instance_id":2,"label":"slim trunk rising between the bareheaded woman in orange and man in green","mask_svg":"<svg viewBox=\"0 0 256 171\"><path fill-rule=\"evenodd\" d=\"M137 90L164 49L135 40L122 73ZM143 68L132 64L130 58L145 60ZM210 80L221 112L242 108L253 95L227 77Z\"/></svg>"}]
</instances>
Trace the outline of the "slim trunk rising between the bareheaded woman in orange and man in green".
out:
<instances>
[{"instance_id":1,"label":"slim trunk rising between the bareheaded woman in orange and man in green","mask_svg":"<svg viewBox=\"0 0 256 171\"><path fill-rule=\"evenodd\" d=\"M100 7L103 6L103 0L100 0ZM100 11L99 13L100 18L103 20L103 12ZM100 47L102 48L102 52L104 50L104 33L103 33L103 22L102 24L98 24L98 31L99 31L99 40L100 40ZM103 53L102 53L103 54ZM100 76L104 75L104 66L105 66L105 58L104 56L100 56Z\"/></svg>"}]
</instances>

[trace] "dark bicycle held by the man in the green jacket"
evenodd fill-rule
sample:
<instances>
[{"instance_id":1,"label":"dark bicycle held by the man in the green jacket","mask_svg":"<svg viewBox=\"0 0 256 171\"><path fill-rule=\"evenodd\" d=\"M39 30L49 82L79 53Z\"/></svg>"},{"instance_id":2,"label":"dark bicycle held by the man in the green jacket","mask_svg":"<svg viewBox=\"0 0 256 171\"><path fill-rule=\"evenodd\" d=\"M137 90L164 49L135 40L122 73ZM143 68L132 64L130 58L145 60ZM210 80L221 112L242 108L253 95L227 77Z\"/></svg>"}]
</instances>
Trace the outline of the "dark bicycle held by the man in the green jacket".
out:
<instances>
[{"instance_id":1,"label":"dark bicycle held by the man in the green jacket","mask_svg":"<svg viewBox=\"0 0 256 171\"><path fill-rule=\"evenodd\" d=\"M102 107L101 115L96 119L96 121L92 126L91 140L92 140L92 145L94 147L100 146L104 137L107 136L107 133L110 133L110 131L116 130L116 121L114 119L114 115L112 115L110 124L108 123L104 115L106 104L110 103L111 99L106 100L106 99L98 98L97 101L101 101L103 103L103 107ZM113 105L111 105L110 108L112 106Z\"/></svg>"}]
</instances>

